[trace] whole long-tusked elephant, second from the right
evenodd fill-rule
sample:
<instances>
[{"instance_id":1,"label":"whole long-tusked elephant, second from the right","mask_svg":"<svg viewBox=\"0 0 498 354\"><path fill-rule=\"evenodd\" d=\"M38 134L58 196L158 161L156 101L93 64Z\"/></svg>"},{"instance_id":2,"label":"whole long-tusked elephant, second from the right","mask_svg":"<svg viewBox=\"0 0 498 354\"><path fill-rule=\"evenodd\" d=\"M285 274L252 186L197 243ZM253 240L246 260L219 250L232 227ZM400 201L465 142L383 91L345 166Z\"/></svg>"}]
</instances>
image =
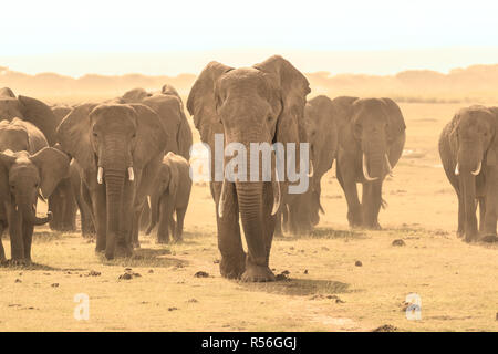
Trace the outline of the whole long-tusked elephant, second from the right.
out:
<instances>
[{"instance_id":1,"label":"whole long-tusked elephant, second from the right","mask_svg":"<svg viewBox=\"0 0 498 354\"><path fill-rule=\"evenodd\" d=\"M347 201L351 227L380 229L382 184L405 145L405 121L391 98L332 100L339 128L338 180ZM363 185L362 201L356 184Z\"/></svg>"}]
</instances>

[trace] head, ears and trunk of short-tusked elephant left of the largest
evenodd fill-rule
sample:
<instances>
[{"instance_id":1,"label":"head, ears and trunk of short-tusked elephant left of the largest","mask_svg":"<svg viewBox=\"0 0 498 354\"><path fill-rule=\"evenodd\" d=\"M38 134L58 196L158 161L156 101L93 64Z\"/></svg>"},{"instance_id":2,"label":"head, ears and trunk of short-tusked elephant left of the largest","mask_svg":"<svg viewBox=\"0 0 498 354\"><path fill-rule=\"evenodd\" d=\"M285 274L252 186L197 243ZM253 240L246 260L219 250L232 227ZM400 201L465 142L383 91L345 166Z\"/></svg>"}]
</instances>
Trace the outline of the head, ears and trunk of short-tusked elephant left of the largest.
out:
<instances>
[{"instance_id":1,"label":"head, ears and trunk of short-tusked elephant left of the largest","mask_svg":"<svg viewBox=\"0 0 498 354\"><path fill-rule=\"evenodd\" d=\"M128 222L143 169L165 148L165 132L157 114L142 104L86 104L75 107L59 125L58 137L83 170L90 186L105 184L105 254L114 257L116 236ZM126 198L124 196L127 196ZM123 235L124 237L124 235Z\"/></svg>"}]
</instances>

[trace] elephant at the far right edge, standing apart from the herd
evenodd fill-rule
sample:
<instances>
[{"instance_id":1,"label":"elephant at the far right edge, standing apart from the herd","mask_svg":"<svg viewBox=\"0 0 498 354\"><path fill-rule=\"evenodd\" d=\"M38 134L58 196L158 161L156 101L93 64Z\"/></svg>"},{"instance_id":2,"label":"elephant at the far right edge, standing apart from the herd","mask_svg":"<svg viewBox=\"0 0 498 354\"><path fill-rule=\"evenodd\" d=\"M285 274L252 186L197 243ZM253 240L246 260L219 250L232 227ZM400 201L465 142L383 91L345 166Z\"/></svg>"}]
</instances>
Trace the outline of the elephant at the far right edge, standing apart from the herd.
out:
<instances>
[{"instance_id":1,"label":"elephant at the far right edge, standing apart from the herd","mask_svg":"<svg viewBox=\"0 0 498 354\"><path fill-rule=\"evenodd\" d=\"M498 107L470 106L455 114L439 137L439 155L458 197L458 236L496 241L498 198Z\"/></svg>"}]
</instances>

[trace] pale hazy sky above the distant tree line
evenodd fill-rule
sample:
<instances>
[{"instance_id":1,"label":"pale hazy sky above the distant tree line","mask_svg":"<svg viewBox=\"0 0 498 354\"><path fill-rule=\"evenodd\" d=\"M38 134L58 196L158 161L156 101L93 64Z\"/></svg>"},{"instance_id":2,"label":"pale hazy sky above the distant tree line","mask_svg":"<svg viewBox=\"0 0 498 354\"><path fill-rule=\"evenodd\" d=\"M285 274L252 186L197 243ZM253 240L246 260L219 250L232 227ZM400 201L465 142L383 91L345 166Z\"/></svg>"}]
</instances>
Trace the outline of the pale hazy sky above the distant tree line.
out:
<instances>
[{"instance_id":1,"label":"pale hazy sky above the distant tree line","mask_svg":"<svg viewBox=\"0 0 498 354\"><path fill-rule=\"evenodd\" d=\"M498 63L496 1L170 2L2 2L0 65L70 75L175 74L196 73L218 55L227 64L249 65L268 53L307 53L313 58L302 61L312 71L332 72L334 65L340 72L387 73L421 65L445 71ZM461 58L445 60L454 50ZM174 63L147 63L167 61L168 53ZM326 58L334 65L328 65Z\"/></svg>"}]
</instances>

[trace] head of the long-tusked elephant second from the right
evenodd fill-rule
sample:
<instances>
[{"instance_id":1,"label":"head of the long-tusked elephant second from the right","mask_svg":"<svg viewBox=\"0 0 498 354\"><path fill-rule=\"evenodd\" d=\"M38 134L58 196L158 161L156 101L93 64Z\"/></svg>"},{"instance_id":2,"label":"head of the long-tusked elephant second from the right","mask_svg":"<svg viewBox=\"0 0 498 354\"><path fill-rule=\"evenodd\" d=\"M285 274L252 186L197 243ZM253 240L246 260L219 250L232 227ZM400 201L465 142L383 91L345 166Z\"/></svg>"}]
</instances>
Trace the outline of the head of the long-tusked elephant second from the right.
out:
<instances>
[{"instance_id":1,"label":"head of the long-tusked elephant second from the right","mask_svg":"<svg viewBox=\"0 0 498 354\"><path fill-rule=\"evenodd\" d=\"M364 179L384 178L392 169L390 147L406 128L400 107L391 98L338 97L333 103L340 132L343 126L351 129L340 134L340 142L360 150ZM347 138L353 142L344 142Z\"/></svg>"}]
</instances>

